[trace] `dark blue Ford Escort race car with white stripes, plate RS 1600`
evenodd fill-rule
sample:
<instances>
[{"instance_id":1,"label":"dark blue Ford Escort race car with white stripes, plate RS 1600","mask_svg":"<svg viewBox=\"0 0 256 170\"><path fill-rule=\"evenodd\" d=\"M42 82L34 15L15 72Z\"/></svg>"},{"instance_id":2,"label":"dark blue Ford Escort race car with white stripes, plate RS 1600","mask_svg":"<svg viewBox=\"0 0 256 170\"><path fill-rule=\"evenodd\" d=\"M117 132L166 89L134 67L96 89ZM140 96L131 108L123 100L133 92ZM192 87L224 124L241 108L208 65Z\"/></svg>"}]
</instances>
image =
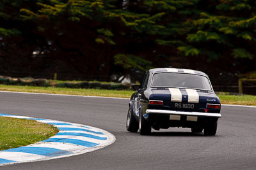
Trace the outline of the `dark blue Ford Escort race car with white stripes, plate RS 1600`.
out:
<instances>
[{"instance_id":1,"label":"dark blue Ford Escort race car with white stripes, plate RS 1600","mask_svg":"<svg viewBox=\"0 0 256 170\"><path fill-rule=\"evenodd\" d=\"M220 99L207 74L191 69L157 68L134 85L127 113L127 131L150 134L151 129L188 127L215 135L221 117Z\"/></svg>"}]
</instances>

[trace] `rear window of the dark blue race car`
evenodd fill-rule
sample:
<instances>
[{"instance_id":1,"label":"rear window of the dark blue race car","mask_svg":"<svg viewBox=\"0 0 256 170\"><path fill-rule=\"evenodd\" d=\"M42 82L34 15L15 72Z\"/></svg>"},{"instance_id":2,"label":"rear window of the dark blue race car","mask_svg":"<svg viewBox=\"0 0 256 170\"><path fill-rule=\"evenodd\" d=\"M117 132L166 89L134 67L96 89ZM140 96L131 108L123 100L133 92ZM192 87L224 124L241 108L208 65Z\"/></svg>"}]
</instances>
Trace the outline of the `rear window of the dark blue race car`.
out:
<instances>
[{"instance_id":1,"label":"rear window of the dark blue race car","mask_svg":"<svg viewBox=\"0 0 256 170\"><path fill-rule=\"evenodd\" d=\"M153 76L151 86L212 90L207 77L184 73L156 73Z\"/></svg>"}]
</instances>

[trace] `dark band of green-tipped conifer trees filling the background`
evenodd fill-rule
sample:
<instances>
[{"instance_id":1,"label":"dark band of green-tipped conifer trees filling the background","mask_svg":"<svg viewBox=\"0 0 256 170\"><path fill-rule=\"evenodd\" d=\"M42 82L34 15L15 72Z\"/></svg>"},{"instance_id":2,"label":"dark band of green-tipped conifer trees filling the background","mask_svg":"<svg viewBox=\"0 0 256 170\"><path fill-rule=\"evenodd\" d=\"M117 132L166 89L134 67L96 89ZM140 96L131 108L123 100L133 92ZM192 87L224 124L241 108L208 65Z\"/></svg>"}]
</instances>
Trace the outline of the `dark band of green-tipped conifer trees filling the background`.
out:
<instances>
[{"instance_id":1,"label":"dark band of green-tipped conifer trees filling the background","mask_svg":"<svg viewBox=\"0 0 256 170\"><path fill-rule=\"evenodd\" d=\"M256 69L253 0L2 0L0 23L0 58L37 50L81 74Z\"/></svg>"}]
</instances>

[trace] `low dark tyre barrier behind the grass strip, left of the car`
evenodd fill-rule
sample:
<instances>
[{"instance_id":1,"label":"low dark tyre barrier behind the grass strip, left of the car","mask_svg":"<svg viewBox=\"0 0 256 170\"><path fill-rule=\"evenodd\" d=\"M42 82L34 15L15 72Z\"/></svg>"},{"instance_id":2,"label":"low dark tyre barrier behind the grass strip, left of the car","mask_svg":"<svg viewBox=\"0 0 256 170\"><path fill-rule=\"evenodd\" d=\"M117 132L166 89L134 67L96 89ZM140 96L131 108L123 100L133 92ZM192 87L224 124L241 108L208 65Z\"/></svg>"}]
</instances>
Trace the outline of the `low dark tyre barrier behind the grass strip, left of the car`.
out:
<instances>
[{"instance_id":1,"label":"low dark tyre barrier behind the grass strip, left of the car","mask_svg":"<svg viewBox=\"0 0 256 170\"><path fill-rule=\"evenodd\" d=\"M132 90L132 85L134 85L134 83L101 83L99 81L70 81L60 83L58 81L47 80L45 78L12 78L10 76L0 76L0 84L105 90Z\"/></svg>"}]
</instances>

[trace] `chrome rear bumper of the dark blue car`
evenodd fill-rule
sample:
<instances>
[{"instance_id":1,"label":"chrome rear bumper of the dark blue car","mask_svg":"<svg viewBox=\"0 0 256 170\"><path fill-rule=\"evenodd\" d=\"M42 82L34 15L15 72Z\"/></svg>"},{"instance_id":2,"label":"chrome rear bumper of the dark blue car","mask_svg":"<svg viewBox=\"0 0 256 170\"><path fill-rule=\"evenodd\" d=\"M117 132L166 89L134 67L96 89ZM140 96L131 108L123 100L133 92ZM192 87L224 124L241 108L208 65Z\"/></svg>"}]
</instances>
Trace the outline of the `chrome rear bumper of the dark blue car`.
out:
<instances>
[{"instance_id":1,"label":"chrome rear bumper of the dark blue car","mask_svg":"<svg viewBox=\"0 0 256 170\"><path fill-rule=\"evenodd\" d=\"M216 117L220 118L220 113L204 113L204 112L194 112L194 111L175 111L175 110L146 110L147 114L168 114L168 115L187 115L187 116L197 116L197 117Z\"/></svg>"}]
</instances>

